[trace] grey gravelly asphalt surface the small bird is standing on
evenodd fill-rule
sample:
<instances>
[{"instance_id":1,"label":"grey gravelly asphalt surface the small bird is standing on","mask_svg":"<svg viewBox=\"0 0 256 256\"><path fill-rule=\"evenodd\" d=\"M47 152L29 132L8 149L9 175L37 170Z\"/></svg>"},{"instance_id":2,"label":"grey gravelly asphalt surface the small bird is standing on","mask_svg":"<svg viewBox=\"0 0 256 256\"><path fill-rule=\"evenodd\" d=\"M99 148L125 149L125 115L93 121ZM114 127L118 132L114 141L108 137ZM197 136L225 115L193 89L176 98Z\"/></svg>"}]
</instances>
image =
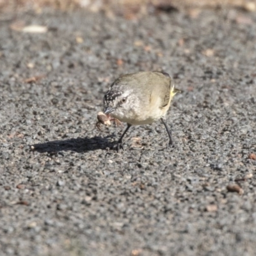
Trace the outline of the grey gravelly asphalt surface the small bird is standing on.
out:
<instances>
[{"instance_id":1,"label":"grey gravelly asphalt surface the small bird is standing on","mask_svg":"<svg viewBox=\"0 0 256 256\"><path fill-rule=\"evenodd\" d=\"M17 20L49 31L1 22L0 255L255 255L255 13ZM111 82L139 70L182 90L175 148L161 122L132 127L122 152L124 127L95 128Z\"/></svg>"}]
</instances>

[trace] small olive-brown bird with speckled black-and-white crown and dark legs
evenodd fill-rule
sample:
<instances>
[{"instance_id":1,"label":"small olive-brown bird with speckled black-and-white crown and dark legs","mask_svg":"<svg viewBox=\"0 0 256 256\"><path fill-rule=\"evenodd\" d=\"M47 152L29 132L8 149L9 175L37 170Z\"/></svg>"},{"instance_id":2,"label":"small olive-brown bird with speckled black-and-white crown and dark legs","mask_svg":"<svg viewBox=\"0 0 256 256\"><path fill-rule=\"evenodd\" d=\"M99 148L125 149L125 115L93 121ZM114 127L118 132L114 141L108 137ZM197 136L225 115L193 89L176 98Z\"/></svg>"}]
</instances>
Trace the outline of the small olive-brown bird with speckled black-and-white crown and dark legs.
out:
<instances>
[{"instance_id":1,"label":"small olive-brown bird with speckled black-and-white crown and dark legs","mask_svg":"<svg viewBox=\"0 0 256 256\"><path fill-rule=\"evenodd\" d=\"M104 95L104 114L126 122L127 127L117 141L120 150L122 140L132 125L152 124L161 120L173 147L172 134L165 122L173 96L180 92L174 88L173 79L166 72L136 72L118 77Z\"/></svg>"}]
</instances>

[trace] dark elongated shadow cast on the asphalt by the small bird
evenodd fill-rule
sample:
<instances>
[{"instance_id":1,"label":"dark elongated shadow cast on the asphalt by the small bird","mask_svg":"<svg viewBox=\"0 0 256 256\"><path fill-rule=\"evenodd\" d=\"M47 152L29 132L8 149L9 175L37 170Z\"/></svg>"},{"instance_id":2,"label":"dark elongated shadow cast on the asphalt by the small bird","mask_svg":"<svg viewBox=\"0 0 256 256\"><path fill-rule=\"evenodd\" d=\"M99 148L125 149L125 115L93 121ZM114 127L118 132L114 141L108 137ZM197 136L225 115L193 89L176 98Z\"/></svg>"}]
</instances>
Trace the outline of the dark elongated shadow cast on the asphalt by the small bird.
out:
<instances>
[{"instance_id":1,"label":"dark elongated shadow cast on the asphalt by the small bird","mask_svg":"<svg viewBox=\"0 0 256 256\"><path fill-rule=\"evenodd\" d=\"M105 138L95 136L93 138L72 138L69 140L54 140L45 143L38 143L31 145L33 151L39 153L58 153L61 151L74 151L74 152L86 152L97 149L106 149L111 147L111 143L108 138L112 136L107 136Z\"/></svg>"}]
</instances>

